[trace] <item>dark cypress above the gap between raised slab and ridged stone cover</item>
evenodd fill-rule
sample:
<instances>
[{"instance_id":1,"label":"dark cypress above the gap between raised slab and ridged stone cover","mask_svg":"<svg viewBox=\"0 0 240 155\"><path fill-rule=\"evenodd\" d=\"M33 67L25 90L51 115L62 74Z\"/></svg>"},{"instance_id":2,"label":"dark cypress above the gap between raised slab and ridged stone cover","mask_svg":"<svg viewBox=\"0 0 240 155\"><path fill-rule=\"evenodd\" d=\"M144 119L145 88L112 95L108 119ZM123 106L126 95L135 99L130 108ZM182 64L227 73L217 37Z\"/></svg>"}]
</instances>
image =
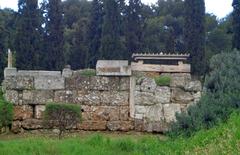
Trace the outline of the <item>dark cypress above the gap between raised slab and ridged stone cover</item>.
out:
<instances>
[{"instance_id":1,"label":"dark cypress above the gap between raised slab and ridged stone cover","mask_svg":"<svg viewBox=\"0 0 240 155\"><path fill-rule=\"evenodd\" d=\"M129 0L127 8L127 26L126 26L126 43L127 58L131 54L141 50L142 21L141 21L141 0Z\"/></svg>"}]
</instances>

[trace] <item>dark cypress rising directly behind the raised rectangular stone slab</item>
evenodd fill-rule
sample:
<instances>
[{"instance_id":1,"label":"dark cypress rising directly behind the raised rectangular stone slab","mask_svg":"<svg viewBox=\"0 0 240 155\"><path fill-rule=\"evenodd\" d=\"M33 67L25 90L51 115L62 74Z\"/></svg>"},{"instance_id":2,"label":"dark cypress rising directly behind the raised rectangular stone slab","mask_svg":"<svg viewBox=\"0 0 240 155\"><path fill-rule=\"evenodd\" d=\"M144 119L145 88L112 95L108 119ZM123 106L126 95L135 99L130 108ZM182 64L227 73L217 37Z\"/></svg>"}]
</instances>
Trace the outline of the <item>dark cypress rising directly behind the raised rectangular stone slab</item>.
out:
<instances>
[{"instance_id":1,"label":"dark cypress rising directly behind the raised rectangular stone slab","mask_svg":"<svg viewBox=\"0 0 240 155\"><path fill-rule=\"evenodd\" d=\"M120 40L120 12L117 0L104 0L104 20L101 38L101 59L121 59L123 45Z\"/></svg>"}]
</instances>

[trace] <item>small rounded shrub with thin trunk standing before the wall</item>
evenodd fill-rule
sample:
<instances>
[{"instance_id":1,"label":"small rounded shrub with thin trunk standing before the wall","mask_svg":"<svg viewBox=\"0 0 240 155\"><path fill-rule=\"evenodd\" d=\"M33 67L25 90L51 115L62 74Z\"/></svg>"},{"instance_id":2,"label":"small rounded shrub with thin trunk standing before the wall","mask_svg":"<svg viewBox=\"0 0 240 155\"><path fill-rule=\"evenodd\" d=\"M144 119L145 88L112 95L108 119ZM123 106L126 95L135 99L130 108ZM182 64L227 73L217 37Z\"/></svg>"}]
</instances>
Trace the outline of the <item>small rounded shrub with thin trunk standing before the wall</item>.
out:
<instances>
[{"instance_id":1,"label":"small rounded shrub with thin trunk standing before the wall","mask_svg":"<svg viewBox=\"0 0 240 155\"><path fill-rule=\"evenodd\" d=\"M59 139L63 132L81 121L81 107L66 103L49 103L44 112L44 124L48 128L59 129Z\"/></svg>"}]
</instances>

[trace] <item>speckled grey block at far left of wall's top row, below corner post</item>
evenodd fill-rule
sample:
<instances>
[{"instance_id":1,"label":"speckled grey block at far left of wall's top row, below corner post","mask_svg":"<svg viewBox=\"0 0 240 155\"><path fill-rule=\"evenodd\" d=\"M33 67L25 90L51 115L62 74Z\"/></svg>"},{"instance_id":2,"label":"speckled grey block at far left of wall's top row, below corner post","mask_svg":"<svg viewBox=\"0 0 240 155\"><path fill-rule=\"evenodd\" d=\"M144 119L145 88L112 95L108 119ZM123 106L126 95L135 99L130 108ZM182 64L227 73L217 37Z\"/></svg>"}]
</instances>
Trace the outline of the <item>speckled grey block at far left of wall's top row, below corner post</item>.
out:
<instances>
[{"instance_id":1,"label":"speckled grey block at far left of wall's top row, below corner post","mask_svg":"<svg viewBox=\"0 0 240 155\"><path fill-rule=\"evenodd\" d=\"M33 89L33 77L30 76L6 77L4 79L3 86L5 89L31 90Z\"/></svg>"}]
</instances>

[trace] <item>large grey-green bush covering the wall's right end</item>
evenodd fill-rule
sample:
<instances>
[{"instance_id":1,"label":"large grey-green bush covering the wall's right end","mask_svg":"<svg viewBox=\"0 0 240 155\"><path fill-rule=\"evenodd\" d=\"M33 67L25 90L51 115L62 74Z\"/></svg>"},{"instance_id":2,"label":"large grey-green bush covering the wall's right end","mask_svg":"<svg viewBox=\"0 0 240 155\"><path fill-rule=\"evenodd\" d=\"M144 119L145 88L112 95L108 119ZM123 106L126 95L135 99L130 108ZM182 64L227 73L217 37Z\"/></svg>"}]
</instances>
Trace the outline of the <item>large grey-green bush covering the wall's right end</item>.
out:
<instances>
[{"instance_id":1,"label":"large grey-green bush covering the wall's right end","mask_svg":"<svg viewBox=\"0 0 240 155\"><path fill-rule=\"evenodd\" d=\"M226 121L234 109L240 108L240 52L214 56L210 74L206 77L206 92L200 102L177 114L171 135L190 136L201 129L209 129Z\"/></svg>"}]
</instances>

